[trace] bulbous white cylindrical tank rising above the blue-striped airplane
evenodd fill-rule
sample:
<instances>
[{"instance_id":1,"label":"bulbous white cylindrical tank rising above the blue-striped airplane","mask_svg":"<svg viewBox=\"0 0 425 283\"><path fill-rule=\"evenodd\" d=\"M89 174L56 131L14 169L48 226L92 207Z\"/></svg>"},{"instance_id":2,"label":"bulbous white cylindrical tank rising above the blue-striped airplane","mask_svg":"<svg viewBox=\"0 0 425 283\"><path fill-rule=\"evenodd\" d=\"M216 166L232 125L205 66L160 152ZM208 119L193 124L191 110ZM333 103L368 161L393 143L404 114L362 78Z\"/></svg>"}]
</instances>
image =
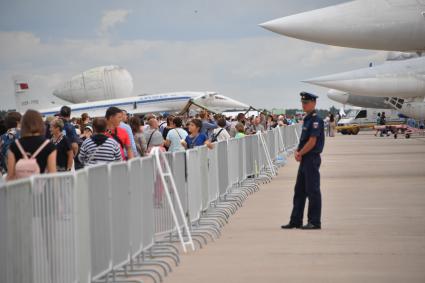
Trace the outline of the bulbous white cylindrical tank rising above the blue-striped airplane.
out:
<instances>
[{"instance_id":1,"label":"bulbous white cylindrical tank rising above the blue-striped airplane","mask_svg":"<svg viewBox=\"0 0 425 283\"><path fill-rule=\"evenodd\" d=\"M65 82L53 95L70 103L125 98L133 92L133 78L119 66L90 69Z\"/></svg>"}]
</instances>

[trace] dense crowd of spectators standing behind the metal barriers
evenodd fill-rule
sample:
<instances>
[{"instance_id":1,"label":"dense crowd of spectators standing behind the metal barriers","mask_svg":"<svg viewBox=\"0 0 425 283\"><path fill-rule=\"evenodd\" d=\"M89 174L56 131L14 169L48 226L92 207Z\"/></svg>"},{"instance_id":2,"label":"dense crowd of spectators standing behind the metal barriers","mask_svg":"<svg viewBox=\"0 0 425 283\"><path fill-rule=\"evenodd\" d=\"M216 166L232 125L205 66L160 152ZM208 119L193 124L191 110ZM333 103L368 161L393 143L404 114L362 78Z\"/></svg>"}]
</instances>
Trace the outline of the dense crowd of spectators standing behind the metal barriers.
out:
<instances>
[{"instance_id":1,"label":"dense crowd of spectators standing behind the metal barriers","mask_svg":"<svg viewBox=\"0 0 425 283\"><path fill-rule=\"evenodd\" d=\"M23 116L9 112L0 132L0 170L7 180L39 173L78 170L86 166L125 161L161 151L184 151L214 142L265 132L297 123L302 117L285 115L236 117L201 111L195 116L149 114L132 116L117 107L104 117L84 113L71 118L71 108L43 119L35 110Z\"/></svg>"}]
</instances>

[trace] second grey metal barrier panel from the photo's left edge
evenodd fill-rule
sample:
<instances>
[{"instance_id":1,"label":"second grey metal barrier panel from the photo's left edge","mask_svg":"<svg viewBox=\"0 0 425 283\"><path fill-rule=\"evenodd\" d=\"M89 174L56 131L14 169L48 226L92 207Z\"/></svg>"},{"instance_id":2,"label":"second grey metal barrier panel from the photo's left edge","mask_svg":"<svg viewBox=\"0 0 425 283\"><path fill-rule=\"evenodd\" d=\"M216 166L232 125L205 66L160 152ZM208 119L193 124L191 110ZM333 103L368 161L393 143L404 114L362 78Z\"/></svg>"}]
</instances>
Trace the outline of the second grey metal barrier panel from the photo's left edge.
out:
<instances>
[{"instance_id":1,"label":"second grey metal barrier panel from the photo's left edge","mask_svg":"<svg viewBox=\"0 0 425 283\"><path fill-rule=\"evenodd\" d=\"M77 282L74 175L33 179L34 282Z\"/></svg>"}]
</instances>

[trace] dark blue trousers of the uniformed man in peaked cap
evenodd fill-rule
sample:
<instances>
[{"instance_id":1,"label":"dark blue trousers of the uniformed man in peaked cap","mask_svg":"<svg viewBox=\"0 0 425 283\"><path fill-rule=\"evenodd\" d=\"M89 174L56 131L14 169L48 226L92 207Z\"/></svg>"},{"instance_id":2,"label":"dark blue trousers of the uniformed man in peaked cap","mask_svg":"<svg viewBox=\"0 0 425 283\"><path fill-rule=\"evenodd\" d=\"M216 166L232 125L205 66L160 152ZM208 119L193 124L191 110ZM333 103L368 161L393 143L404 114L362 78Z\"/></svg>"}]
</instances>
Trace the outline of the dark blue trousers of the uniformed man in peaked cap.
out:
<instances>
[{"instance_id":1,"label":"dark blue trousers of the uniformed man in peaked cap","mask_svg":"<svg viewBox=\"0 0 425 283\"><path fill-rule=\"evenodd\" d=\"M302 224L305 202L308 198L308 222L315 226L321 226L320 164L320 154L310 153L302 157L294 190L294 207L291 214L292 224Z\"/></svg>"}]
</instances>

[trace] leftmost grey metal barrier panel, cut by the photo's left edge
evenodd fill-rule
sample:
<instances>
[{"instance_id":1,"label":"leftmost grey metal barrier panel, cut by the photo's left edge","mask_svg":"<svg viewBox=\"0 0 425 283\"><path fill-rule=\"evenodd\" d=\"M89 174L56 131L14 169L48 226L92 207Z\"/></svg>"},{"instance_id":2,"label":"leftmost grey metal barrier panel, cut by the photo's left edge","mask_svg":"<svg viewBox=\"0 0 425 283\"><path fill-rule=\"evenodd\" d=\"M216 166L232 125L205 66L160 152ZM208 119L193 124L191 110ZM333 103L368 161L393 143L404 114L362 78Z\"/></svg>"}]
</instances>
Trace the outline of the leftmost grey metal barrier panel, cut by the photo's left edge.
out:
<instances>
[{"instance_id":1,"label":"leftmost grey metal barrier panel, cut by the photo's left edge","mask_svg":"<svg viewBox=\"0 0 425 283\"><path fill-rule=\"evenodd\" d=\"M0 188L0 213L0 282L34 282L29 179Z\"/></svg>"}]
</instances>

